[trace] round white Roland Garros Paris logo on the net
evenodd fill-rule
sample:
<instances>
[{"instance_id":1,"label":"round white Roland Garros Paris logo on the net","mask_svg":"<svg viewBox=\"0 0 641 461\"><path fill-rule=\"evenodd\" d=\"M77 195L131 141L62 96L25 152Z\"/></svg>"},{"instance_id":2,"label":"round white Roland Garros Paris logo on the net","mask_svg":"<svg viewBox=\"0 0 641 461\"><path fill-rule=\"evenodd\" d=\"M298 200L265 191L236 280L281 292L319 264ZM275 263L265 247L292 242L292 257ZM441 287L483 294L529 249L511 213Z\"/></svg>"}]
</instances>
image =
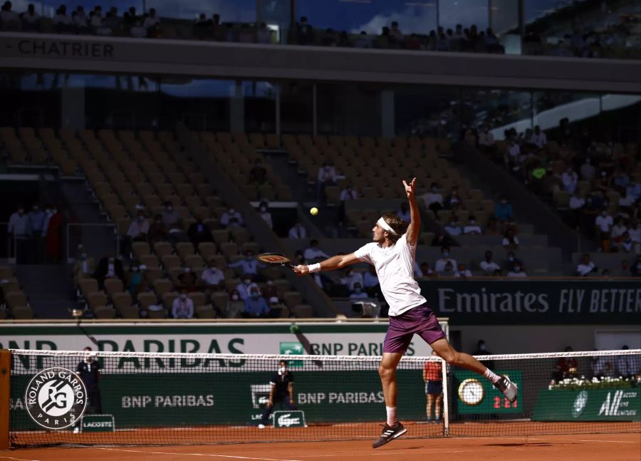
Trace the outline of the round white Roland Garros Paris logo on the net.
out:
<instances>
[{"instance_id":1,"label":"round white Roland Garros Paris logo on the net","mask_svg":"<svg viewBox=\"0 0 641 461\"><path fill-rule=\"evenodd\" d=\"M87 408L83 380L67 368L53 367L33 376L24 394L31 419L43 428L58 430L75 424Z\"/></svg>"}]
</instances>

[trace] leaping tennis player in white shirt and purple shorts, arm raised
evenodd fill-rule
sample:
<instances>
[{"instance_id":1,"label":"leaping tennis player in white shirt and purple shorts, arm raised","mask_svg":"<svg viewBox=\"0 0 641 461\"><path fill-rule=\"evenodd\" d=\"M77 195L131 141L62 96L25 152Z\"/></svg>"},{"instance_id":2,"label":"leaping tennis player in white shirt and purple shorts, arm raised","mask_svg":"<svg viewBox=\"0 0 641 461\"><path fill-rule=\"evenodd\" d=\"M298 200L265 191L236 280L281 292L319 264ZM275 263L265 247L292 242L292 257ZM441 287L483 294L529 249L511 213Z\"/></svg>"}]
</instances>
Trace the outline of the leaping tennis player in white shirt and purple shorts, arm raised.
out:
<instances>
[{"instance_id":1,"label":"leaping tennis player in white shirt and purple shorts, arm raised","mask_svg":"<svg viewBox=\"0 0 641 461\"><path fill-rule=\"evenodd\" d=\"M378 367L385 395L387 423L383 426L380 438L372 444L374 448L385 445L407 432L396 415L396 367L407 351L414 333L432 346L447 363L484 375L511 402L516 400L517 394L516 385L507 376L496 375L474 357L454 351L445 338L436 315L421 296L421 290L412 272L421 222L415 197L416 178L410 185L404 180L403 185L410 202L409 225L396 214L383 214L372 229L373 242L352 254L337 254L320 263L309 266L301 264L293 269L296 274L309 274L341 269L358 262L368 262L376 268L380 288L390 306L390 326L387 328L383 355Z\"/></svg>"}]
</instances>

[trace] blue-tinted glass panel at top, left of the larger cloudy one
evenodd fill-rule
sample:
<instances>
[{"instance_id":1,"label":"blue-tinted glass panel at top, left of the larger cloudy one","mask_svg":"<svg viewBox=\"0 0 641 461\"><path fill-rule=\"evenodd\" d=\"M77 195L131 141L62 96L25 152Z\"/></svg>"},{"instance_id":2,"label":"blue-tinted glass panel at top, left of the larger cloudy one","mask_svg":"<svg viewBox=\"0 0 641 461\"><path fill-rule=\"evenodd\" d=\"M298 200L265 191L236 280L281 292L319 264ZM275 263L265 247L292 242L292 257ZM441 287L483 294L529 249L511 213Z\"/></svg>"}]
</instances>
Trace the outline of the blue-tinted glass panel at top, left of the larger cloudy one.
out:
<instances>
[{"instance_id":1,"label":"blue-tinted glass panel at top, left of the larger cloudy one","mask_svg":"<svg viewBox=\"0 0 641 461\"><path fill-rule=\"evenodd\" d=\"M155 8L160 18L197 19L204 13L208 18L220 14L221 22L256 21L256 0L146 0L147 11Z\"/></svg>"}]
</instances>

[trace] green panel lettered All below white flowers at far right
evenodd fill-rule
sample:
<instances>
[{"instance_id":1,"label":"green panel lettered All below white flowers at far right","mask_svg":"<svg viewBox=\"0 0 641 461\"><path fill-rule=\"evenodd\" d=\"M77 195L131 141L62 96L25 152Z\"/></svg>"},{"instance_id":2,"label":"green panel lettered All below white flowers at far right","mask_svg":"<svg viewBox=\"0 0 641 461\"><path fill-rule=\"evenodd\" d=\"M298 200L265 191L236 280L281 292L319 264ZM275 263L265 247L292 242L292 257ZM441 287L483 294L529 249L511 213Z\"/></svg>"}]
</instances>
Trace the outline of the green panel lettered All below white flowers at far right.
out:
<instances>
[{"instance_id":1,"label":"green panel lettered All below white flowers at far right","mask_svg":"<svg viewBox=\"0 0 641 461\"><path fill-rule=\"evenodd\" d=\"M638 388L541 390L535 421L641 421Z\"/></svg>"}]
</instances>

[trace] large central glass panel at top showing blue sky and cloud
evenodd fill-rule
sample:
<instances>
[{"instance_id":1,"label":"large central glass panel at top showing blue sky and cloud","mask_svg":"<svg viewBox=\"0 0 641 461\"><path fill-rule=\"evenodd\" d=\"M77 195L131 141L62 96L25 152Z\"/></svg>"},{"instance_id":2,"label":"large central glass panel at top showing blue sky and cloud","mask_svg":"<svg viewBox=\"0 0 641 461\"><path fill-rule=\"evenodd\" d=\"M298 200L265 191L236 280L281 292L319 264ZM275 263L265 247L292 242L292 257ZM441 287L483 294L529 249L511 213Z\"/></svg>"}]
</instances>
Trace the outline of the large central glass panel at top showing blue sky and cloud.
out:
<instances>
[{"instance_id":1,"label":"large central glass panel at top showing blue sky and cloud","mask_svg":"<svg viewBox=\"0 0 641 461\"><path fill-rule=\"evenodd\" d=\"M436 29L437 0L297 0L296 20L301 16L317 29L373 34L397 21L403 33L429 33Z\"/></svg>"}]
</instances>

